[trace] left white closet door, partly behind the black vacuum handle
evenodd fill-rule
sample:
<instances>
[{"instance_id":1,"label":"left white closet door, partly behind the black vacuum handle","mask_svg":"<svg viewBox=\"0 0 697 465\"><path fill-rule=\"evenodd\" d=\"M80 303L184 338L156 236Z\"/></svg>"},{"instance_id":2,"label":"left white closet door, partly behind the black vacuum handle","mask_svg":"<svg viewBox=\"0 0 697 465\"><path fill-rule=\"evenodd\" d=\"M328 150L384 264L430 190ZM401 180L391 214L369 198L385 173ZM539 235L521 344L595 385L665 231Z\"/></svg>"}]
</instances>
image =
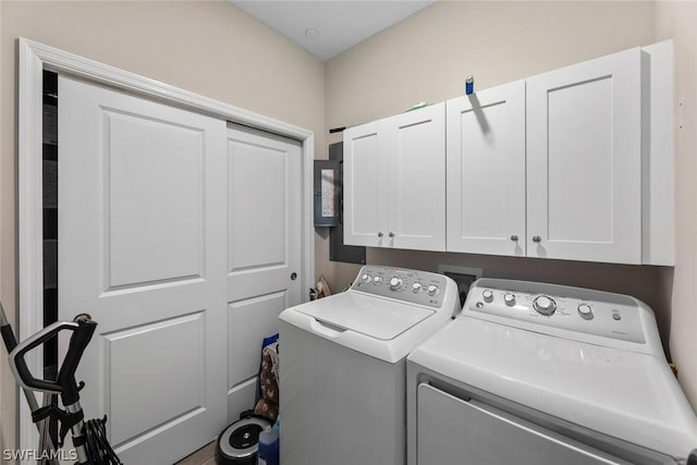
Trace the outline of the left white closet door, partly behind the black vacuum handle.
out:
<instances>
[{"instance_id":1,"label":"left white closet door, partly behind the black vacuum handle","mask_svg":"<svg viewBox=\"0 0 697 465\"><path fill-rule=\"evenodd\" d=\"M77 372L129 464L228 423L223 120L59 77L59 318L99 323Z\"/></svg>"}]
</instances>

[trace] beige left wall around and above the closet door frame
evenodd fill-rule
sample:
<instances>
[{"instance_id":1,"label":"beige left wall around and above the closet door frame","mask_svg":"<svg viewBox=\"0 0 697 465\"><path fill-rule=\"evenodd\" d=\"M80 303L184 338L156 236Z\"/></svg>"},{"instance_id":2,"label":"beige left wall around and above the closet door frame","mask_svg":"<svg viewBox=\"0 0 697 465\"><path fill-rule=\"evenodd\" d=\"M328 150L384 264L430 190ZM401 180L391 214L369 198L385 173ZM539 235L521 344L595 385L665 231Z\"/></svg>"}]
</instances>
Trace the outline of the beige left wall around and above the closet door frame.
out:
<instances>
[{"instance_id":1,"label":"beige left wall around and above the closet door frame","mask_svg":"<svg viewBox=\"0 0 697 465\"><path fill-rule=\"evenodd\" d=\"M0 298L13 317L17 37L311 130L325 152L323 63L228 1L3 0L0 21ZM0 372L1 452L15 446L16 389L4 356Z\"/></svg>"}]
</instances>

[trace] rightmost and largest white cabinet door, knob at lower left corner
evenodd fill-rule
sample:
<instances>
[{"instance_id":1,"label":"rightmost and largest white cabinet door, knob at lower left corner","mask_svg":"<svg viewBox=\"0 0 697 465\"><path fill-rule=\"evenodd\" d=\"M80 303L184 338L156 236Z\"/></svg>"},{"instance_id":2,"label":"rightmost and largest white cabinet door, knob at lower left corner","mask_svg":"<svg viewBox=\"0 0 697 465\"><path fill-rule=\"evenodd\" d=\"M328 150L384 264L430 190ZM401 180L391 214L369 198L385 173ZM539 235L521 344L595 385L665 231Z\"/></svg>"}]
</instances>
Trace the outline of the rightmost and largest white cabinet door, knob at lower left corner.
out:
<instances>
[{"instance_id":1,"label":"rightmost and largest white cabinet door, knob at lower left corner","mask_svg":"<svg viewBox=\"0 0 697 465\"><path fill-rule=\"evenodd\" d=\"M640 51L527 79L527 255L641 261Z\"/></svg>"}]
</instances>

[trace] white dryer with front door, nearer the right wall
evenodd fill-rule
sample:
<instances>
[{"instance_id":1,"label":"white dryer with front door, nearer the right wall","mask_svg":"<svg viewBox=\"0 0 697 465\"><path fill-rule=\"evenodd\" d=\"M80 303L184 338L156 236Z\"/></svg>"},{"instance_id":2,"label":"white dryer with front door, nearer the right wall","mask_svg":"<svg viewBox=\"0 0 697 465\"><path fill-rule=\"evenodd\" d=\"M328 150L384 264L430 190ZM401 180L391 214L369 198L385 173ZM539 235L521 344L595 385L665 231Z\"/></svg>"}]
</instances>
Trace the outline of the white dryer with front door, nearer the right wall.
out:
<instances>
[{"instance_id":1,"label":"white dryer with front door, nearer the right wall","mask_svg":"<svg viewBox=\"0 0 697 465\"><path fill-rule=\"evenodd\" d=\"M481 279L408 356L408 465L684 464L697 418L653 313L620 294Z\"/></svg>"}]
</instances>

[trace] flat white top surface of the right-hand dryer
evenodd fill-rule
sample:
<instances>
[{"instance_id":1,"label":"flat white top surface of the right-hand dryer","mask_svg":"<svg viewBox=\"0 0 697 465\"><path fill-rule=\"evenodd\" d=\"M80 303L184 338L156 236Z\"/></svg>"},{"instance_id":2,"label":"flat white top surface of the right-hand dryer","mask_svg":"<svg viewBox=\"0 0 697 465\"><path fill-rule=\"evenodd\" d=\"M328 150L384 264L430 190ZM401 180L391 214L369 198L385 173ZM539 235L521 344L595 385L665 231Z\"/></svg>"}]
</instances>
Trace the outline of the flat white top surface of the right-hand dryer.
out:
<instances>
[{"instance_id":1,"label":"flat white top surface of the right-hand dryer","mask_svg":"<svg viewBox=\"0 0 697 465\"><path fill-rule=\"evenodd\" d=\"M503 399L674 457L697 419L664 359L461 316L414 350L417 364Z\"/></svg>"}]
</instances>

